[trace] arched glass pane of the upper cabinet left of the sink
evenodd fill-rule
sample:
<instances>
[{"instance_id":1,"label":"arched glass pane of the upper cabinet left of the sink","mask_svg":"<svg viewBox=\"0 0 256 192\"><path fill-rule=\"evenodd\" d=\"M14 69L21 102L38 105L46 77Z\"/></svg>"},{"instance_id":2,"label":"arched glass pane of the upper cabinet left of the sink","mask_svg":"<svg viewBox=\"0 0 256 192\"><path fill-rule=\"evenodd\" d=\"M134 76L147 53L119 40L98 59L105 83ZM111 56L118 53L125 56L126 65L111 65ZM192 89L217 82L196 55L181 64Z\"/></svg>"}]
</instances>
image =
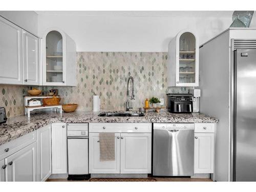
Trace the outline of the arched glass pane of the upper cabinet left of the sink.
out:
<instances>
[{"instance_id":1,"label":"arched glass pane of the upper cabinet left of the sink","mask_svg":"<svg viewBox=\"0 0 256 192\"><path fill-rule=\"evenodd\" d=\"M63 38L58 31L46 36L46 82L63 81Z\"/></svg>"}]
</instances>

